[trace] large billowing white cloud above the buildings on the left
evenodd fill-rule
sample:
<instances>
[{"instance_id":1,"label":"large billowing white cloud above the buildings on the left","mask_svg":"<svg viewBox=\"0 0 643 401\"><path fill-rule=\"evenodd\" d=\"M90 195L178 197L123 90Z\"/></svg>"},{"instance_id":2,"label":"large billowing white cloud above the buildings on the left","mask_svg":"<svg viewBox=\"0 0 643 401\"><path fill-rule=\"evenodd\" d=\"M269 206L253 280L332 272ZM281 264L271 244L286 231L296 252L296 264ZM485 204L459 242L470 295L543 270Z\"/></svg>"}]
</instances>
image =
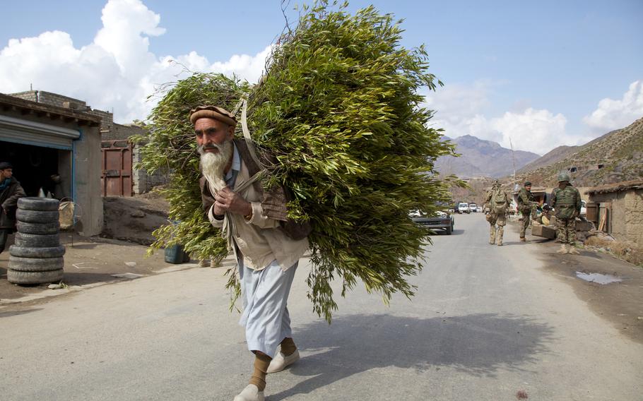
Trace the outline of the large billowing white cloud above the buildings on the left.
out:
<instances>
[{"instance_id":1,"label":"large billowing white cloud above the buildings on the left","mask_svg":"<svg viewBox=\"0 0 643 401\"><path fill-rule=\"evenodd\" d=\"M114 109L114 121L126 123L144 119L155 104L146 101L148 95L157 85L185 78L185 68L235 73L256 82L271 49L212 63L196 52L157 56L149 51L150 38L165 29L159 26L160 16L141 0L109 0L101 20L93 42L81 48L60 31L10 40L0 49L0 92L21 92L33 84L34 89L85 100L96 109Z\"/></svg>"}]
</instances>

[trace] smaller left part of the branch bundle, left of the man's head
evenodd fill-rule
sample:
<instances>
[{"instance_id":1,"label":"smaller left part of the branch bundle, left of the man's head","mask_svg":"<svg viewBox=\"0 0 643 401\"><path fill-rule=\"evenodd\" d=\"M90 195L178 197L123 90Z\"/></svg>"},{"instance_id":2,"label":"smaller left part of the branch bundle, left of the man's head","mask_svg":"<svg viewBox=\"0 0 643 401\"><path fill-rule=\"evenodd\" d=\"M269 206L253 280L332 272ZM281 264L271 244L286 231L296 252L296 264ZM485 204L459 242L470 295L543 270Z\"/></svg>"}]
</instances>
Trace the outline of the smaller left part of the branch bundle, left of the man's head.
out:
<instances>
[{"instance_id":1,"label":"smaller left part of the branch bundle, left of the man's head","mask_svg":"<svg viewBox=\"0 0 643 401\"><path fill-rule=\"evenodd\" d=\"M195 73L159 88L158 92L165 95L148 117L151 124L146 126L146 134L133 138L141 146L141 162L136 168L170 175L170 183L158 192L170 204L171 222L155 230L156 241L150 253L164 246L182 245L201 259L220 260L228 254L226 241L201 208L199 154L188 116L191 109L202 104L231 110L248 90L246 83L208 73Z\"/></svg>"}]
</instances>

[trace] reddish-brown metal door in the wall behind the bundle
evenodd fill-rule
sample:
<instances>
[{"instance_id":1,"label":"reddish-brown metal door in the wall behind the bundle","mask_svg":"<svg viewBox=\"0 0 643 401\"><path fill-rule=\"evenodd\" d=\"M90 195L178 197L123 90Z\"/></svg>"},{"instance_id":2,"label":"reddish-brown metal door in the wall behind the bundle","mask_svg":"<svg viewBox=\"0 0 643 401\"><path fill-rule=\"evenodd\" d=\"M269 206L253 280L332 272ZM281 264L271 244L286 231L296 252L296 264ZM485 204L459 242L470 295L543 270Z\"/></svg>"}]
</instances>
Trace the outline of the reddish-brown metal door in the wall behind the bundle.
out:
<instances>
[{"instance_id":1,"label":"reddish-brown metal door in the wall behind the bundle","mask_svg":"<svg viewBox=\"0 0 643 401\"><path fill-rule=\"evenodd\" d=\"M127 140L102 140L102 196L132 196L131 151Z\"/></svg>"}]
</instances>

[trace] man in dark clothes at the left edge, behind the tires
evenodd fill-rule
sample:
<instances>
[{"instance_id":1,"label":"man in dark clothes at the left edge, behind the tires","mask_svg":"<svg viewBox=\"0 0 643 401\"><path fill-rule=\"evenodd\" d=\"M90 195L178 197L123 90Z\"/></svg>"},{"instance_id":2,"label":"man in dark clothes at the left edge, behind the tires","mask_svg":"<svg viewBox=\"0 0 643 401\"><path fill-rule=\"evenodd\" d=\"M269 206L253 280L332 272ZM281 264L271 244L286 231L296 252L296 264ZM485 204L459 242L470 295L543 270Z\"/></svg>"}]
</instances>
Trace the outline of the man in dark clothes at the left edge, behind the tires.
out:
<instances>
[{"instance_id":1,"label":"man in dark clothes at the left edge, behind the tires","mask_svg":"<svg viewBox=\"0 0 643 401\"><path fill-rule=\"evenodd\" d=\"M13 178L13 166L0 162L0 253L4 251L9 234L16 230L18 198L27 196L17 179Z\"/></svg>"}]
</instances>

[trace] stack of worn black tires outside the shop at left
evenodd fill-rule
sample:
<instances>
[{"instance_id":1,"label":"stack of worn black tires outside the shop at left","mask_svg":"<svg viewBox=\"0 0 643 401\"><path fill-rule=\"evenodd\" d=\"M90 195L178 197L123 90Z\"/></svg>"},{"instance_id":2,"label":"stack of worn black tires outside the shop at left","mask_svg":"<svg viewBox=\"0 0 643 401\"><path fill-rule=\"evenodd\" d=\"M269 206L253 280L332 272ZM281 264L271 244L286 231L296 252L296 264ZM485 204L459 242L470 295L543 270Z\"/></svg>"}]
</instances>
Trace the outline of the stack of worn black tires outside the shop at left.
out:
<instances>
[{"instance_id":1,"label":"stack of worn black tires outside the shop at left","mask_svg":"<svg viewBox=\"0 0 643 401\"><path fill-rule=\"evenodd\" d=\"M65 247L60 244L59 201L18 199L18 234L9 248L7 280L32 285L59 282L63 277Z\"/></svg>"}]
</instances>

